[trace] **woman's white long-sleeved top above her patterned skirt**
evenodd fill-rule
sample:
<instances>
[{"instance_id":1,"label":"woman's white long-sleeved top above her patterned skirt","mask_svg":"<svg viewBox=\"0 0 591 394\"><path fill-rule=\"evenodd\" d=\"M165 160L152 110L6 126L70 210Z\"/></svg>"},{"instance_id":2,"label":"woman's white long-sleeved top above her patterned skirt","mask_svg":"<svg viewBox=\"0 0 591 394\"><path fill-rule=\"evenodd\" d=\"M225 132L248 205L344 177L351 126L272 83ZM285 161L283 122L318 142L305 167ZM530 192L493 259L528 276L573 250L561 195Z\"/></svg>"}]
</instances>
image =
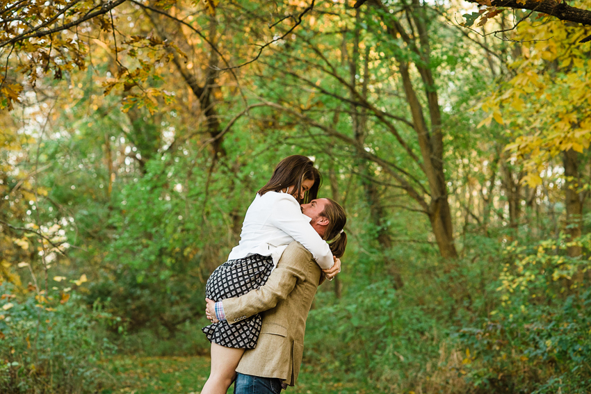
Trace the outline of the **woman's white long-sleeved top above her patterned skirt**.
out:
<instances>
[{"instance_id":1,"label":"woman's white long-sleeved top above her patterned skirt","mask_svg":"<svg viewBox=\"0 0 591 394\"><path fill-rule=\"evenodd\" d=\"M310 220L292 195L266 192L259 196L257 193L246 211L240 243L232 249L228 260L260 254L272 256L273 264L277 265L287 245L296 240L309 250L323 270L331 268L334 261L330 247L311 227Z\"/></svg>"}]
</instances>

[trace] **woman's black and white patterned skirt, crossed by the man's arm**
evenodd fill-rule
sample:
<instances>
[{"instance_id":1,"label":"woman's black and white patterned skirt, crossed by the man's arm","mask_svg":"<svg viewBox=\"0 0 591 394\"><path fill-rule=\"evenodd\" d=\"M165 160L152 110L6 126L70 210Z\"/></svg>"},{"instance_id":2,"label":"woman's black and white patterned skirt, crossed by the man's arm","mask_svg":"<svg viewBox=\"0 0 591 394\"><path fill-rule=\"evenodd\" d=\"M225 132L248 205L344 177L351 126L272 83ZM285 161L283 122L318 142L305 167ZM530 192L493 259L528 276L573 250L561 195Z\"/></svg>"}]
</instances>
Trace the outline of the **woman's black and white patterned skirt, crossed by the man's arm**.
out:
<instances>
[{"instance_id":1,"label":"woman's black and white patterned skirt, crossed by the man's arm","mask_svg":"<svg viewBox=\"0 0 591 394\"><path fill-rule=\"evenodd\" d=\"M252 254L245 258L229 260L216 268L207 279L205 295L215 302L231 297L240 297L250 290L266 284L273 270L273 258ZM210 342L225 347L254 349L261 333L262 319L253 315L248 319L229 325L226 320L203 327L201 331Z\"/></svg>"}]
</instances>

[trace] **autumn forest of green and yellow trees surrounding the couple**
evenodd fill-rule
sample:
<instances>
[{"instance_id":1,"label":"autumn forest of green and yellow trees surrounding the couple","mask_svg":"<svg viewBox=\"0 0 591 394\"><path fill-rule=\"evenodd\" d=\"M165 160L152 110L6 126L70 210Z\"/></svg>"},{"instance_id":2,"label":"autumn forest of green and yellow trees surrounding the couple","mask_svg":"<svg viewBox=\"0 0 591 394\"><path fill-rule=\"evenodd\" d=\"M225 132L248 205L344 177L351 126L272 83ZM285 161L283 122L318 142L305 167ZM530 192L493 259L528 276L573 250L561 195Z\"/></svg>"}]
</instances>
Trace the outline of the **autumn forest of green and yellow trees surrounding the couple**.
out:
<instances>
[{"instance_id":1,"label":"autumn forest of green and yellow trees surrounding the couple","mask_svg":"<svg viewBox=\"0 0 591 394\"><path fill-rule=\"evenodd\" d=\"M2 1L0 391L200 391L305 154L349 244L289 391L591 392L584 3Z\"/></svg>"}]
</instances>

